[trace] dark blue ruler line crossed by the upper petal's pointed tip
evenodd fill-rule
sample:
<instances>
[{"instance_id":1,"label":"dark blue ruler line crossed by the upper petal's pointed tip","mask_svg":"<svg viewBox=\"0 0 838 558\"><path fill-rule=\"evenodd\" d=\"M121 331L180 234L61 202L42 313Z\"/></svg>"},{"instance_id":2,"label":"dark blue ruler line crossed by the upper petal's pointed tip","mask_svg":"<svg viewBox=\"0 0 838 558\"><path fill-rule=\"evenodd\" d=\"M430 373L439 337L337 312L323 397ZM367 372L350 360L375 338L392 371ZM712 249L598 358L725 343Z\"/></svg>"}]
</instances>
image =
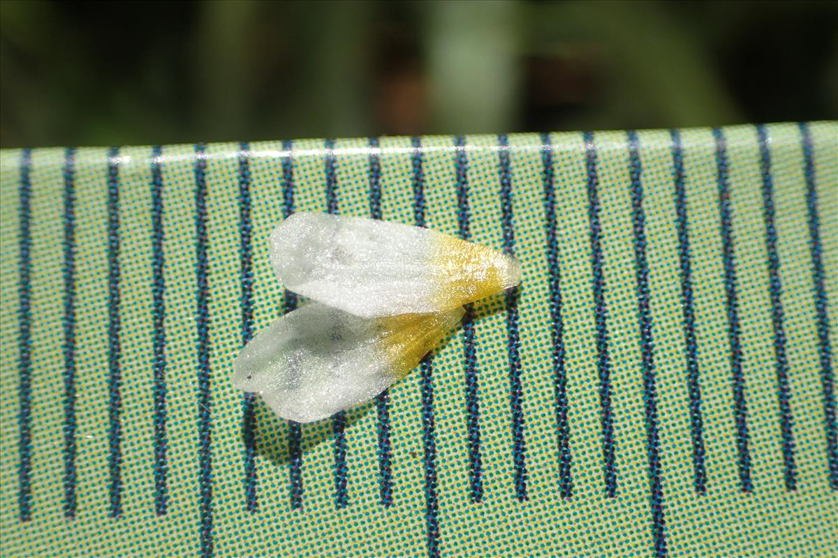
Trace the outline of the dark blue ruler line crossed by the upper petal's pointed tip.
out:
<instances>
[{"instance_id":1,"label":"dark blue ruler line crossed by the upper petal's pointed tip","mask_svg":"<svg viewBox=\"0 0 838 558\"><path fill-rule=\"evenodd\" d=\"M504 252L515 256L515 223L512 207L512 165L510 141L505 134L498 136L500 175L500 225L504 234ZM524 435L524 409L521 400L520 332L518 327L518 287L505 293L507 356L510 362L510 407L512 412L512 463L515 466L515 497L523 502L526 494L526 438Z\"/></svg>"}]
</instances>

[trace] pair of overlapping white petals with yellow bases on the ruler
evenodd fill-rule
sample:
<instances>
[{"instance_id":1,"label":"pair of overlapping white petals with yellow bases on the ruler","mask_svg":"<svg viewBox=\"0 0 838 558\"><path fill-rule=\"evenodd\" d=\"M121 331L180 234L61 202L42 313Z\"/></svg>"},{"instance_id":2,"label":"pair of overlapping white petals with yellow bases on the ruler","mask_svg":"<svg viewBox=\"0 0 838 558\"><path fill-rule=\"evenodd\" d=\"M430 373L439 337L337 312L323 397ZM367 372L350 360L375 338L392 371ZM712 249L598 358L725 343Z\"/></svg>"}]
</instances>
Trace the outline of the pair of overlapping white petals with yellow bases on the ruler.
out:
<instances>
[{"instance_id":1,"label":"pair of overlapping white petals with yellow bases on the ruler","mask_svg":"<svg viewBox=\"0 0 838 558\"><path fill-rule=\"evenodd\" d=\"M311 299L262 330L233 385L313 422L367 402L454 330L463 305L520 283L506 253L427 228L299 212L270 238L277 279Z\"/></svg>"}]
</instances>

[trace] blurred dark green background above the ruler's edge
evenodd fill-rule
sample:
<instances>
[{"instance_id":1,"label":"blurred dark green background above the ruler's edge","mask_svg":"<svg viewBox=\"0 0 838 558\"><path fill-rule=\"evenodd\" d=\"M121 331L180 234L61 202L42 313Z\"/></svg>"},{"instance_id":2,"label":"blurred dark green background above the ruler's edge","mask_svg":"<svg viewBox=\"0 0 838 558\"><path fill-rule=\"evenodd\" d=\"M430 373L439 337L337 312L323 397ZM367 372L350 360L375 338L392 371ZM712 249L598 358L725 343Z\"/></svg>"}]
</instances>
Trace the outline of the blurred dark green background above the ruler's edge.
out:
<instances>
[{"instance_id":1,"label":"blurred dark green background above the ruler's edge","mask_svg":"<svg viewBox=\"0 0 838 558\"><path fill-rule=\"evenodd\" d=\"M3 147L838 118L835 2L0 9Z\"/></svg>"}]
</instances>

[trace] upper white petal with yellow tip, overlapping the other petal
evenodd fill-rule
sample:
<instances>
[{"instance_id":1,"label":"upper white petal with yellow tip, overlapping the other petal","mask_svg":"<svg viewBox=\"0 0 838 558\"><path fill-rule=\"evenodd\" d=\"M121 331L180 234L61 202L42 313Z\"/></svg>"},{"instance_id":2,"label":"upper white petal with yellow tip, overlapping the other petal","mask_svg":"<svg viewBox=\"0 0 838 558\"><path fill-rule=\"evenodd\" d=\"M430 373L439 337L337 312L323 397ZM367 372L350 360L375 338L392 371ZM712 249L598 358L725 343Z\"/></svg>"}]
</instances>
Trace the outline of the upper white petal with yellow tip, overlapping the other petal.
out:
<instances>
[{"instance_id":1,"label":"upper white petal with yellow tip, overlapping the other petal","mask_svg":"<svg viewBox=\"0 0 838 558\"><path fill-rule=\"evenodd\" d=\"M520 283L514 257L401 223L300 212L271 235L287 289L365 317L458 308Z\"/></svg>"}]
</instances>

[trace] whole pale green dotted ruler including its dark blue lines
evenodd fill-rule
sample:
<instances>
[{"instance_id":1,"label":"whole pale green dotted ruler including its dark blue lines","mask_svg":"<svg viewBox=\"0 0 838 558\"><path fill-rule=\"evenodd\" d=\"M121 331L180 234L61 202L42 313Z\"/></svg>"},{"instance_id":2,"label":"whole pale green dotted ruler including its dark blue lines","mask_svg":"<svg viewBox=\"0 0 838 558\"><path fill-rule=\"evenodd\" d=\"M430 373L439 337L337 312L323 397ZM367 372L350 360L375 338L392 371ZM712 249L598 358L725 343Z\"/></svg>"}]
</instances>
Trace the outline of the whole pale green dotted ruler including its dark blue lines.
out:
<instances>
[{"instance_id":1,"label":"whole pale green dotted ruler including its dark blue lines","mask_svg":"<svg viewBox=\"0 0 838 558\"><path fill-rule=\"evenodd\" d=\"M3 555L834 553L835 123L0 171ZM525 279L385 400L300 427L231 362L296 304L272 228L329 200L514 249Z\"/></svg>"}]
</instances>

